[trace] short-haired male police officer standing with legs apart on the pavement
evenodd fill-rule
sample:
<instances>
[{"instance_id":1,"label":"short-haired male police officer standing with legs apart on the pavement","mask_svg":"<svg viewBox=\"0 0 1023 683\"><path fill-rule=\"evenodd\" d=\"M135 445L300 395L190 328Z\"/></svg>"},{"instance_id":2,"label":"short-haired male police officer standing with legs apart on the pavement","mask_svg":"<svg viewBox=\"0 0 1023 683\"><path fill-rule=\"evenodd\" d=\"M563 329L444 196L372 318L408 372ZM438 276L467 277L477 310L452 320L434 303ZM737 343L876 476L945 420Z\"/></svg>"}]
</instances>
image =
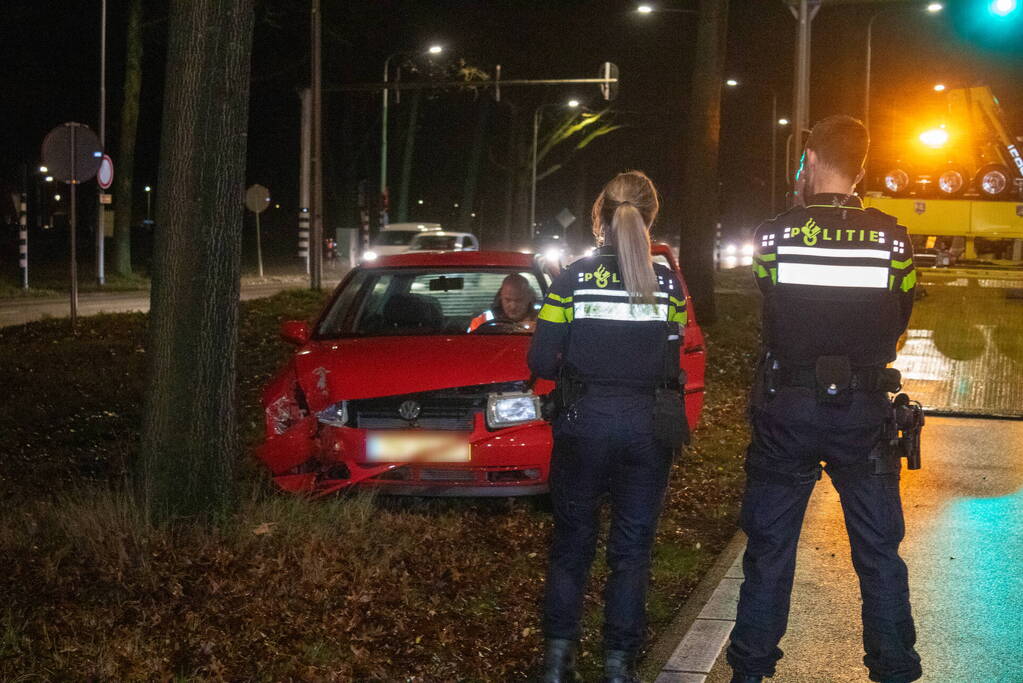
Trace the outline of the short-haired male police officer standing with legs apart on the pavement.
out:
<instances>
[{"instance_id":1,"label":"short-haired male police officer standing with legs apart on the pavement","mask_svg":"<svg viewBox=\"0 0 1023 683\"><path fill-rule=\"evenodd\" d=\"M921 676L914 649L897 455L882 444L886 365L913 308L905 228L863 210L868 134L844 116L813 127L798 183L805 206L761 225L753 270L763 293L764 357L751 400L741 523L745 581L727 650L732 681L774 674L789 616L796 545L820 462L842 500L862 595L871 680ZM797 187L797 189L799 189Z\"/></svg>"}]
</instances>

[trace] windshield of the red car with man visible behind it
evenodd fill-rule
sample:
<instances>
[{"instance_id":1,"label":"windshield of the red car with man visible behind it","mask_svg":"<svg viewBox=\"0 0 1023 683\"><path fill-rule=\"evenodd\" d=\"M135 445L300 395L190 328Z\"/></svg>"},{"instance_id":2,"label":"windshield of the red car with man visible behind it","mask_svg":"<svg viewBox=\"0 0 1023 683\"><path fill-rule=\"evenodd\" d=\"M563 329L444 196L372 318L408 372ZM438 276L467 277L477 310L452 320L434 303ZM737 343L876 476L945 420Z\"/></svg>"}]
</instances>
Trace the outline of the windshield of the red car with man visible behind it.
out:
<instances>
[{"instance_id":1,"label":"windshield of the red car with man visible behind it","mask_svg":"<svg viewBox=\"0 0 1023 683\"><path fill-rule=\"evenodd\" d=\"M518 274L532 290L535 320L543 301L537 273L514 268L367 269L356 271L316 328L316 338L405 334L530 334L494 311L504 279ZM521 280L518 280L521 282Z\"/></svg>"}]
</instances>

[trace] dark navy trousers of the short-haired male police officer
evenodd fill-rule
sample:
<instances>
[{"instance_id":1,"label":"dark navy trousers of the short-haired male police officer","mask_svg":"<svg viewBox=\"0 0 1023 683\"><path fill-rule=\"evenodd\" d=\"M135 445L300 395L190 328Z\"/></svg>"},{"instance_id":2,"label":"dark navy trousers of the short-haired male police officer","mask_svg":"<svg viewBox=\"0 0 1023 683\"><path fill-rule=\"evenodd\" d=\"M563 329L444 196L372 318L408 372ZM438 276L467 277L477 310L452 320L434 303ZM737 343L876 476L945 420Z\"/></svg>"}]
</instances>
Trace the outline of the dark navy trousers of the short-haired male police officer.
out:
<instances>
[{"instance_id":1,"label":"dark navy trousers of the short-haired male police officer","mask_svg":"<svg viewBox=\"0 0 1023 683\"><path fill-rule=\"evenodd\" d=\"M810 390L787 388L752 414L741 523L743 557L736 627L727 661L744 674L772 676L782 657L796 546L820 462L842 500L862 596L863 664L871 680L921 676L905 563L899 463L873 473L869 457L887 416L884 394L856 393L852 405L817 405ZM821 605L827 608L827 605Z\"/></svg>"}]
</instances>

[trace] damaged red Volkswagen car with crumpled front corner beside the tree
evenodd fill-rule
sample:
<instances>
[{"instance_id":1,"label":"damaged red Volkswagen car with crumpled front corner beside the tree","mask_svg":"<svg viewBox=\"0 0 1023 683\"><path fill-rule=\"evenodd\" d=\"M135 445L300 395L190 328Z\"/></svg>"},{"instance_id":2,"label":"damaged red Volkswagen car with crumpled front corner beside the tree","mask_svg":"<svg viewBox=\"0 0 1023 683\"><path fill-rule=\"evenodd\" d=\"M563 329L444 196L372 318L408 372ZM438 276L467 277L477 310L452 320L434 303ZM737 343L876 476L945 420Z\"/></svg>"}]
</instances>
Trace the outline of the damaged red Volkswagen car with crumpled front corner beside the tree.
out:
<instances>
[{"instance_id":1,"label":"damaged red Volkswagen car with crumpled front corner beside the tree","mask_svg":"<svg viewBox=\"0 0 1023 683\"><path fill-rule=\"evenodd\" d=\"M678 273L666 245L654 254ZM298 350L263 392L258 451L274 482L313 495L545 492L551 436L537 397L553 385L529 383L531 330L495 319L468 331L511 273L539 307L550 276L532 255L418 253L353 269L315 323L285 322ZM695 426L705 359L692 311L682 367Z\"/></svg>"}]
</instances>

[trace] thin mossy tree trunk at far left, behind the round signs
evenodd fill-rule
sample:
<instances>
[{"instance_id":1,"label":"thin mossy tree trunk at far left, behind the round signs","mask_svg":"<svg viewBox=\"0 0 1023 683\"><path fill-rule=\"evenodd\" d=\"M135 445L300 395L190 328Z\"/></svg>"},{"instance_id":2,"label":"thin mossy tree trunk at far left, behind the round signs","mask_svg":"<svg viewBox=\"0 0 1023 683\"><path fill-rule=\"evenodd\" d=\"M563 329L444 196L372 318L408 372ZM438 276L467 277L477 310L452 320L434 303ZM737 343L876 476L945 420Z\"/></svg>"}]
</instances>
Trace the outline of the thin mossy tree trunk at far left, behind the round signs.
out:
<instances>
[{"instance_id":1,"label":"thin mossy tree trunk at far left, behind the round signs","mask_svg":"<svg viewBox=\"0 0 1023 683\"><path fill-rule=\"evenodd\" d=\"M131 275L132 181L135 178L138 101L142 90L142 0L131 0L128 6L127 43L121 140L114 188L114 268L118 275Z\"/></svg>"}]
</instances>

